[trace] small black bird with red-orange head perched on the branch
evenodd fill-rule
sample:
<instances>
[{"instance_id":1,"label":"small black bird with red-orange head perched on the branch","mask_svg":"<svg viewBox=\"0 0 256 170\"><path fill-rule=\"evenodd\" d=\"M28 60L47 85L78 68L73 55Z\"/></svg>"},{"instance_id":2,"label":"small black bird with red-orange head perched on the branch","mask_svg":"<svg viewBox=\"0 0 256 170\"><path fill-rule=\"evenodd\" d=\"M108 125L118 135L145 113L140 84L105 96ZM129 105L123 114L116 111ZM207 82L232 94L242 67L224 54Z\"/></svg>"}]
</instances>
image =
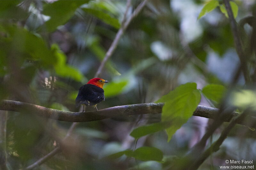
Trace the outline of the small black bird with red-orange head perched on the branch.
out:
<instances>
[{"instance_id":1,"label":"small black bird with red-orange head perched on the branch","mask_svg":"<svg viewBox=\"0 0 256 170\"><path fill-rule=\"evenodd\" d=\"M97 104L102 100L105 100L103 85L108 81L101 78L93 78L87 82L87 84L80 87L78 95L76 97L76 107L80 104L85 106L94 106L97 109ZM97 109L98 110L98 109Z\"/></svg>"}]
</instances>

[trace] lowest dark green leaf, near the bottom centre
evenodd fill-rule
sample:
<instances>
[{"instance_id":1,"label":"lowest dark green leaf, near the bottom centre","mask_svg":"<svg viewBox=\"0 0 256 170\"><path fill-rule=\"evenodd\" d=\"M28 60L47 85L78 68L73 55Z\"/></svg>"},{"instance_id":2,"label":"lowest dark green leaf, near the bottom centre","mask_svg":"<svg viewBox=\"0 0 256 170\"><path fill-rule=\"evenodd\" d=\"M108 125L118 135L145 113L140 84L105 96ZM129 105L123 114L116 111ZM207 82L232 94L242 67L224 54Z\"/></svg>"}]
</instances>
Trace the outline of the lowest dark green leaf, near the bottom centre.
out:
<instances>
[{"instance_id":1,"label":"lowest dark green leaf, near the bottom centre","mask_svg":"<svg viewBox=\"0 0 256 170\"><path fill-rule=\"evenodd\" d=\"M128 157L133 157L135 159L143 160L143 161L162 161L163 159L163 152L155 147L140 147L135 151L132 150L125 150L122 152L117 152L108 156L108 158L119 158L123 155Z\"/></svg>"}]
</instances>

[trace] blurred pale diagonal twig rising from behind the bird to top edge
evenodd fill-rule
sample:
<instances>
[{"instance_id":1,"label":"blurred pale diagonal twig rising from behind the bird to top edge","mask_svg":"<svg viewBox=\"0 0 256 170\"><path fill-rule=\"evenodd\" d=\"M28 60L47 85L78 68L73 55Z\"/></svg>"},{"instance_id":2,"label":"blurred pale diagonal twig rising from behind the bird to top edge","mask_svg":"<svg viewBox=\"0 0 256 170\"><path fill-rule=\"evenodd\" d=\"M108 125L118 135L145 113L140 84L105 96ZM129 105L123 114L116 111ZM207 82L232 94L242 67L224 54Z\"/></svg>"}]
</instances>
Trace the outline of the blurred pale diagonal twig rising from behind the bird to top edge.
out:
<instances>
[{"instance_id":1,"label":"blurred pale diagonal twig rising from behind the bird to top edge","mask_svg":"<svg viewBox=\"0 0 256 170\"><path fill-rule=\"evenodd\" d=\"M98 77L105 65L105 63L108 61L108 59L111 57L111 55L113 54L113 52L116 49L116 46L120 40L120 38L122 37L122 35L124 34L124 31L126 30L126 28L128 27L128 25L131 23L132 19L135 18L140 11L142 10L142 8L145 6L147 0L144 0L143 2L141 2L138 7L133 11L132 15L124 22L123 25L121 25L120 29L118 30L118 32L116 33L116 37L114 39L114 41L112 42L111 46L109 47L104 59L102 60L100 67L98 68L96 74L94 77ZM125 18L124 18L125 19Z\"/></svg>"}]
</instances>

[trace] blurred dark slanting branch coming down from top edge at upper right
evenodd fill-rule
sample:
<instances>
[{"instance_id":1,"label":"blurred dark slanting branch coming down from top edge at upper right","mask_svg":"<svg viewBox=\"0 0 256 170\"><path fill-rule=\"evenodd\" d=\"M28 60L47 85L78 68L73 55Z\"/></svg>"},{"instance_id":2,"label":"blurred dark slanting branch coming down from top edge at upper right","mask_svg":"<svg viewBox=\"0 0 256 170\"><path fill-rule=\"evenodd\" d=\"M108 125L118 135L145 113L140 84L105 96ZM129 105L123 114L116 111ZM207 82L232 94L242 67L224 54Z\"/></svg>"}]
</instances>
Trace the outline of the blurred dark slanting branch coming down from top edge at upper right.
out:
<instances>
[{"instance_id":1,"label":"blurred dark slanting branch coming down from top edge at upper right","mask_svg":"<svg viewBox=\"0 0 256 170\"><path fill-rule=\"evenodd\" d=\"M245 82L248 82L248 81L250 81L249 72L247 70L246 57L244 55L244 50L243 50L243 47L242 47L241 39L240 39L240 36L238 34L236 20L234 18L231 6L229 4L229 0L223 0L223 2L225 4L225 7L226 7L227 12L228 12L228 18L229 18L229 21L230 21L230 26L231 26L231 30L232 30L234 41L235 41L236 52L237 52L237 54L239 56L239 59L240 59L240 62L241 62L241 67L242 67L242 71L243 71L243 74L244 74L244 80L245 80Z\"/></svg>"}]
</instances>

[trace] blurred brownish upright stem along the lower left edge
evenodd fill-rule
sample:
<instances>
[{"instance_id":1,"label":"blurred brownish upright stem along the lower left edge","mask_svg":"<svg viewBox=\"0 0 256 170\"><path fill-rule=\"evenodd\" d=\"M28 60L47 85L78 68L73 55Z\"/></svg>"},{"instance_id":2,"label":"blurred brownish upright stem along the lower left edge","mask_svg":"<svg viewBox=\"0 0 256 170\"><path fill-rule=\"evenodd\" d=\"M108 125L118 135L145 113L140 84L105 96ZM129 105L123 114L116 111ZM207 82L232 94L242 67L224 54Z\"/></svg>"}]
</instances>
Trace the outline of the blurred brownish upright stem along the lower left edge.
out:
<instances>
[{"instance_id":1,"label":"blurred brownish upright stem along the lower left edge","mask_svg":"<svg viewBox=\"0 0 256 170\"><path fill-rule=\"evenodd\" d=\"M6 169L6 122L7 111L0 110L0 169Z\"/></svg>"}]
</instances>

